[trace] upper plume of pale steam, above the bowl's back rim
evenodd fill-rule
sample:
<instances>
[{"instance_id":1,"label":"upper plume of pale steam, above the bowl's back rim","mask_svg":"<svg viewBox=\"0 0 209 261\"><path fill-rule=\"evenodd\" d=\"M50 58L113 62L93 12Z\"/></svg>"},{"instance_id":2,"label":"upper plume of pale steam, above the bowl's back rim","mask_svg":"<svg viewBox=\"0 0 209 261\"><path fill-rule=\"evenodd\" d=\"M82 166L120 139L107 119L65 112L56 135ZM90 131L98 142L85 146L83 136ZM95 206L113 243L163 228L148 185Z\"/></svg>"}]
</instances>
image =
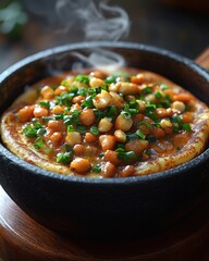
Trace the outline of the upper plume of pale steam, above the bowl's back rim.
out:
<instances>
[{"instance_id":1,"label":"upper plume of pale steam, above the bowl's back rim","mask_svg":"<svg viewBox=\"0 0 209 261\"><path fill-rule=\"evenodd\" d=\"M108 5L108 1L97 2L98 4L93 0L59 0L57 12L59 18L65 23L65 30L78 25L85 39L90 40L119 40L127 36L127 13L120 7Z\"/></svg>"}]
</instances>

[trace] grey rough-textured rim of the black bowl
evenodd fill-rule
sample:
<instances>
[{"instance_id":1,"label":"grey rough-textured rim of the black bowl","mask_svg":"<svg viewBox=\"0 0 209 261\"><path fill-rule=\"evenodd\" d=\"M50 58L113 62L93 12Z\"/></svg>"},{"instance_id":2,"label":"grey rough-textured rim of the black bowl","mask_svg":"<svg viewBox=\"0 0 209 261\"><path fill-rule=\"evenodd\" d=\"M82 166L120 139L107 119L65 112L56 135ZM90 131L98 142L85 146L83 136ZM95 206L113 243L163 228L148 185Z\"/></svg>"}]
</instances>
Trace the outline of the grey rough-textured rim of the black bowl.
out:
<instances>
[{"instance_id":1,"label":"grey rough-textured rim of the black bowl","mask_svg":"<svg viewBox=\"0 0 209 261\"><path fill-rule=\"evenodd\" d=\"M79 49L90 49L90 48L122 48L122 49L135 49L140 50L145 52L151 52L158 55L167 57L170 60L174 60L175 62L183 63L186 66L188 66L190 70L195 71L197 74L199 74L201 77L206 78L206 80L209 82L209 74L207 70L195 63L194 61L177 54L173 51L150 46L150 45L144 45L144 44L137 44L137 42L126 42L126 41L118 41L118 42L111 42L111 41L86 41L86 42L75 42L75 44L69 44L64 46L53 47L46 49L44 51L37 52L33 55L29 55L16 63L14 63L12 66L7 69L4 72L0 74L0 86L3 84L4 80L7 80L9 77L11 77L16 71L37 62L38 60L47 59L60 53L79 50ZM76 184L89 184L89 185L126 185L126 184L138 184L138 183L147 183L147 182L156 182L161 181L165 178L172 178L173 176L179 176L182 173L189 174L189 171L193 167L196 167L200 164L204 164L206 161L209 161L209 148L206 149L204 152L201 152L199 156L194 158L193 160L183 163L179 166L175 166L173 169L157 172L148 175L138 175L138 176L131 176L131 177L120 177L120 178L91 178L91 177L85 177L85 176L71 176L71 175L64 175L59 174L56 172L49 172L41 167L38 167L36 165L29 164L28 162L20 159L12 152L10 152L0 142L0 157L3 157L4 159L9 160L12 164L16 164L20 167L22 167L25 172L30 172L35 175L41 175L42 177L49 177L59 182L64 183L76 183ZM4 160L3 159L3 160Z\"/></svg>"}]
</instances>

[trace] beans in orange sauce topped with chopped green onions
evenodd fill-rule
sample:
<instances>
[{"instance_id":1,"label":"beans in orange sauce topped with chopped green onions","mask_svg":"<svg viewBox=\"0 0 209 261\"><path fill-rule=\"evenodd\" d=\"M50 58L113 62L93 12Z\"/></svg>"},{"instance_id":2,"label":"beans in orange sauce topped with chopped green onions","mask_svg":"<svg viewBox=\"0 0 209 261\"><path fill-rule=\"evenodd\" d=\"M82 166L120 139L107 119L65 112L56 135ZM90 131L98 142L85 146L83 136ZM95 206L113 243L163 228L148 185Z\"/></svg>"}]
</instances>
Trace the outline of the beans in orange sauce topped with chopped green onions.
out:
<instances>
[{"instance_id":1,"label":"beans in orange sauce topped with chopped green onions","mask_svg":"<svg viewBox=\"0 0 209 261\"><path fill-rule=\"evenodd\" d=\"M175 153L193 132L193 95L143 72L53 80L16 121L36 150L75 175L133 176L138 162Z\"/></svg>"}]
</instances>

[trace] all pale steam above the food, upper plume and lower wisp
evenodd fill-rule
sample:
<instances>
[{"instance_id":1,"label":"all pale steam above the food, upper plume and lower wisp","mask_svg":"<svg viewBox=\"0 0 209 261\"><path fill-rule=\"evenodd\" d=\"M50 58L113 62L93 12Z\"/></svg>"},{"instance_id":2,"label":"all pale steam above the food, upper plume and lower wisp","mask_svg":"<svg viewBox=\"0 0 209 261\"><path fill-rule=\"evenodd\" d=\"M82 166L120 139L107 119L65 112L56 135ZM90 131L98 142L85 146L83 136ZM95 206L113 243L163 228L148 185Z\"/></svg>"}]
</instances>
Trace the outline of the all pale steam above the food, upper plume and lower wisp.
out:
<instances>
[{"instance_id":1,"label":"all pale steam above the food, upper plume and lower wisp","mask_svg":"<svg viewBox=\"0 0 209 261\"><path fill-rule=\"evenodd\" d=\"M52 25L56 24L60 34L70 37L73 34L74 40L82 34L83 40L116 41L130 32L127 13L121 7L110 5L108 0L24 1L30 12L44 16ZM109 69L115 69L125 65L121 55L107 50L94 50L88 57L77 52L73 54L95 67L111 65ZM78 69L81 64L74 64L73 69Z\"/></svg>"}]
</instances>

